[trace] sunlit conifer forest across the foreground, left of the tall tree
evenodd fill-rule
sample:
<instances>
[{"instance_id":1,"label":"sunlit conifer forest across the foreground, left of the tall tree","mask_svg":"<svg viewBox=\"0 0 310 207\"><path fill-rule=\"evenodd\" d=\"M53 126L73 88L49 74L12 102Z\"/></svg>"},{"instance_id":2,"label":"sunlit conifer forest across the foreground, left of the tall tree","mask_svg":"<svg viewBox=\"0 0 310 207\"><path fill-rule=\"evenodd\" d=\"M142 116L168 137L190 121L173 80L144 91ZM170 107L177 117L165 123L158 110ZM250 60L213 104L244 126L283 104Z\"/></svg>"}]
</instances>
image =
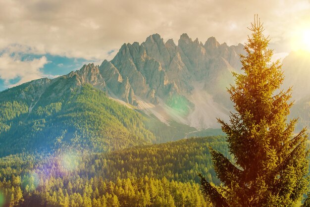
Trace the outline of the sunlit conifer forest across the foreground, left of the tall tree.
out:
<instances>
[{"instance_id":1,"label":"sunlit conifer forest across the foreground, left of the tall tree","mask_svg":"<svg viewBox=\"0 0 310 207\"><path fill-rule=\"evenodd\" d=\"M6 205L20 207L204 207L197 173L217 182L207 146L231 158L223 137L110 153L10 155L0 159L0 192Z\"/></svg>"}]
</instances>

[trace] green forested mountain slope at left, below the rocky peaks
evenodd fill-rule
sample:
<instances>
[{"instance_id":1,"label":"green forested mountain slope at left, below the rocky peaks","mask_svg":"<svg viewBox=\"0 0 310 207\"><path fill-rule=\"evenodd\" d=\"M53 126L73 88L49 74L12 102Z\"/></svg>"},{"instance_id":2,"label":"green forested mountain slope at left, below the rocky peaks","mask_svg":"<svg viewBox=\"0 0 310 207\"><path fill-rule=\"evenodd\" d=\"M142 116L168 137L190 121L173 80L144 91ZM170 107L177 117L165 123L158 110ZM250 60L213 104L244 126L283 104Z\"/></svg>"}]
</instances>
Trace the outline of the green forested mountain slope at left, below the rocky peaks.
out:
<instances>
[{"instance_id":1,"label":"green forested mountain slope at left, below the rocky peaks","mask_svg":"<svg viewBox=\"0 0 310 207\"><path fill-rule=\"evenodd\" d=\"M0 94L0 155L73 146L105 152L155 142L141 114L102 91L83 84L59 93L57 80L46 81Z\"/></svg>"}]
</instances>

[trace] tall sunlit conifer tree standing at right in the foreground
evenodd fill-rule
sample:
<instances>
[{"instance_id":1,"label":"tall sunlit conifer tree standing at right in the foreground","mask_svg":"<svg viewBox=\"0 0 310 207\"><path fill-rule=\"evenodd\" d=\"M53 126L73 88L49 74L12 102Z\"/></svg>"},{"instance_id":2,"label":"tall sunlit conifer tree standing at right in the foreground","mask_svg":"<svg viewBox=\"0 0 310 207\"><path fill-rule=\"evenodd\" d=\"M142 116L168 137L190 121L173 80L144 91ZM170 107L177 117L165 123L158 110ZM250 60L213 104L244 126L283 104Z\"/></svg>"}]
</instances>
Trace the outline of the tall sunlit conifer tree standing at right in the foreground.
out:
<instances>
[{"instance_id":1,"label":"tall sunlit conifer tree standing at right in the foreground","mask_svg":"<svg viewBox=\"0 0 310 207\"><path fill-rule=\"evenodd\" d=\"M287 122L292 88L279 90L281 64L270 61L273 52L257 16L251 25L247 55L241 55L244 73L233 73L235 86L228 89L236 112L230 124L218 119L234 160L210 149L222 185L200 175L201 186L215 207L295 206L309 184L307 133L294 134L297 119Z\"/></svg>"}]
</instances>

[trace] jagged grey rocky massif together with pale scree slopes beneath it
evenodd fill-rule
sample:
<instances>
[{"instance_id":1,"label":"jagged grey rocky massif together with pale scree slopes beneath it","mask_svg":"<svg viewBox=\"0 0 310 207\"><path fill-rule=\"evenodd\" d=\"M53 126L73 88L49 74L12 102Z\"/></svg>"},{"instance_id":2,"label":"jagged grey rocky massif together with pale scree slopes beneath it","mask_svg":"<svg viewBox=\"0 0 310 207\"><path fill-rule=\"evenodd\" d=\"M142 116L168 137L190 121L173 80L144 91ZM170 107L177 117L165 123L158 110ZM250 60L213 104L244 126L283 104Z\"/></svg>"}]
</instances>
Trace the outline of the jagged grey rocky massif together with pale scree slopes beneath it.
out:
<instances>
[{"instance_id":1,"label":"jagged grey rocky massif together with pale scree slopes beneath it","mask_svg":"<svg viewBox=\"0 0 310 207\"><path fill-rule=\"evenodd\" d=\"M233 83L231 71L241 68L239 54L244 53L243 47L219 44L214 37L203 44L187 34L182 34L176 45L172 39L164 42L154 34L142 44L124 44L100 68L113 67L120 80L125 80L120 83L130 84L131 100L163 121L175 119L198 128L215 127L215 117L200 115L198 111L216 111L227 117L232 105L226 87ZM109 93L130 103L127 94L117 93L115 88L108 87ZM194 100L193 96L197 98L200 92L205 97ZM200 107L206 101L212 102L213 107ZM201 121L191 121L194 112Z\"/></svg>"}]
</instances>

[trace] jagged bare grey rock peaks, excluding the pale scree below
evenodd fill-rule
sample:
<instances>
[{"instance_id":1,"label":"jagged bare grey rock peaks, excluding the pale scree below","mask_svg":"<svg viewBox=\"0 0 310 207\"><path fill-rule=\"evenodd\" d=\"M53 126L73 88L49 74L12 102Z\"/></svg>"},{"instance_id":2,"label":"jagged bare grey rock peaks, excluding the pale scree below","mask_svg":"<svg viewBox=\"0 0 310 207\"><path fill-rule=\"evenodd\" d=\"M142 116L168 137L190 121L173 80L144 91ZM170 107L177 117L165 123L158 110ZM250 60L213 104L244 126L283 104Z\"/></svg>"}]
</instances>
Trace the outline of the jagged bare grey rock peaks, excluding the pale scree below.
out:
<instances>
[{"instance_id":1,"label":"jagged bare grey rock peaks, excluding the pale scree below","mask_svg":"<svg viewBox=\"0 0 310 207\"><path fill-rule=\"evenodd\" d=\"M238 54L242 52L241 44L228 47L215 38L202 44L183 34L176 46L173 40L164 43L154 34L142 44L124 44L111 61L104 60L100 67L84 66L77 73L98 88L105 86L110 95L125 102L131 94L133 100L139 97L158 104L159 99L165 102L173 95L190 95L196 82L206 83L206 88L211 87L214 92L219 76L227 78L231 70L241 67ZM105 84L98 84L99 80Z\"/></svg>"}]
</instances>

